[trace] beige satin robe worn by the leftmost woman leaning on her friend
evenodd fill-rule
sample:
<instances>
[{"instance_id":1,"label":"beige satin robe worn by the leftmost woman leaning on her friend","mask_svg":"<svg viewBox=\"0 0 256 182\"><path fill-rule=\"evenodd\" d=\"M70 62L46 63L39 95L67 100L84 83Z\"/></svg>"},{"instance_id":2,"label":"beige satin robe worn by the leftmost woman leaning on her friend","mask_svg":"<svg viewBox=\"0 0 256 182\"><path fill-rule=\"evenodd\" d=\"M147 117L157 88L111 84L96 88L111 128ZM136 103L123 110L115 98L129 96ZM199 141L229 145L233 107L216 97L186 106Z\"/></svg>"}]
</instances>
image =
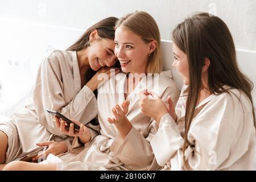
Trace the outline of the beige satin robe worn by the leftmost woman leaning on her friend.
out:
<instances>
[{"instance_id":1,"label":"beige satin robe worn by the leftmost woman leaning on her friend","mask_svg":"<svg viewBox=\"0 0 256 182\"><path fill-rule=\"evenodd\" d=\"M0 122L0 130L9 137L6 163L37 154L43 147L36 143L50 137L71 146L73 138L61 133L54 116L46 109L59 111L84 124L97 116L94 93L87 86L81 88L76 51L49 52L40 64L30 104L12 114L9 121Z\"/></svg>"}]
</instances>

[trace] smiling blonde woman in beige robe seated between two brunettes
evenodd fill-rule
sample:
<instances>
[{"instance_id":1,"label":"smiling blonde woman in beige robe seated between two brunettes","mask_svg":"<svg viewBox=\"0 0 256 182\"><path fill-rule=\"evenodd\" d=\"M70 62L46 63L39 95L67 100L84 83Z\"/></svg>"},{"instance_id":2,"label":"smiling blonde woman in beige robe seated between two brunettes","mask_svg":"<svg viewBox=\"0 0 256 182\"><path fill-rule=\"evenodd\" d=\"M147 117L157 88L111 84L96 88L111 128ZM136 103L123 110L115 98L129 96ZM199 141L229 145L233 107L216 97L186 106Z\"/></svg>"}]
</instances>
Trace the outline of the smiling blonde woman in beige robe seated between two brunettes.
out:
<instances>
[{"instance_id":1,"label":"smiling blonde woman in beige robe seated between two brunettes","mask_svg":"<svg viewBox=\"0 0 256 182\"><path fill-rule=\"evenodd\" d=\"M63 163L16 162L10 163L5 169L159 168L150 146L151 137L158 126L154 119L141 113L138 94L144 89L154 90L162 100L166 101L167 96L171 95L176 103L175 98L179 97L180 92L171 79L171 72L162 72L160 34L151 15L139 11L123 16L117 22L115 30L115 55L124 73L118 73L98 89L100 135L90 130L90 138L86 142L81 142L80 137L76 137L69 148L70 153L59 158ZM119 117L128 121L127 130L118 126ZM80 125L80 122L76 123ZM68 134L64 122L60 121L59 125L61 131ZM75 155L77 153L79 154Z\"/></svg>"}]
</instances>

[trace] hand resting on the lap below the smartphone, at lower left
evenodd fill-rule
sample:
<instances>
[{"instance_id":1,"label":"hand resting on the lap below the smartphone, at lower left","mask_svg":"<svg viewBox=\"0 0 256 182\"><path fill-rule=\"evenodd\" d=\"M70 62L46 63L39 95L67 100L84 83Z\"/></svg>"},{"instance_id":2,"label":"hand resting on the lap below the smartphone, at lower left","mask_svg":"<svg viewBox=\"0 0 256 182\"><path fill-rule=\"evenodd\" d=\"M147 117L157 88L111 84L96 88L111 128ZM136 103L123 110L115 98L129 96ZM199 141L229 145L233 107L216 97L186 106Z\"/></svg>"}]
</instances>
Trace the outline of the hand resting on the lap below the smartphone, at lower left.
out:
<instances>
[{"instance_id":1,"label":"hand resting on the lap below the smartphone, at lower left","mask_svg":"<svg viewBox=\"0 0 256 182\"><path fill-rule=\"evenodd\" d=\"M63 141L61 141L61 142L47 141L47 142L37 143L36 145L38 145L40 147L45 146L48 148L46 151L44 151L41 154L32 158L32 162L37 162L38 159L42 158L43 155L45 156L45 158L47 158L47 156L49 154L59 155L59 154L63 154L68 151L67 144L65 144L65 142L63 142Z\"/></svg>"}]
</instances>

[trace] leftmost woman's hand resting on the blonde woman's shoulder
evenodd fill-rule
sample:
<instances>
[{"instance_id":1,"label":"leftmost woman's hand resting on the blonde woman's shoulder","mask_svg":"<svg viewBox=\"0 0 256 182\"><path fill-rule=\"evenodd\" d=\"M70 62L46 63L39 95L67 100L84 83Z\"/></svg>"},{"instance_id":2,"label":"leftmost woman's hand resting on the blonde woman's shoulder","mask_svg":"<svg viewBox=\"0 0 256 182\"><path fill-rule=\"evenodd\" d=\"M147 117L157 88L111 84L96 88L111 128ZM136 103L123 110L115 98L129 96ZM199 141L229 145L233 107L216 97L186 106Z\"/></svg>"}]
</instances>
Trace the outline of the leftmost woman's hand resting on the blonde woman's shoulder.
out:
<instances>
[{"instance_id":1,"label":"leftmost woman's hand resting on the blonde woman's shoulder","mask_svg":"<svg viewBox=\"0 0 256 182\"><path fill-rule=\"evenodd\" d=\"M110 77L116 75L118 72L120 72L120 69L103 67L86 83L86 86L94 92L94 90L98 89L108 81Z\"/></svg>"}]
</instances>

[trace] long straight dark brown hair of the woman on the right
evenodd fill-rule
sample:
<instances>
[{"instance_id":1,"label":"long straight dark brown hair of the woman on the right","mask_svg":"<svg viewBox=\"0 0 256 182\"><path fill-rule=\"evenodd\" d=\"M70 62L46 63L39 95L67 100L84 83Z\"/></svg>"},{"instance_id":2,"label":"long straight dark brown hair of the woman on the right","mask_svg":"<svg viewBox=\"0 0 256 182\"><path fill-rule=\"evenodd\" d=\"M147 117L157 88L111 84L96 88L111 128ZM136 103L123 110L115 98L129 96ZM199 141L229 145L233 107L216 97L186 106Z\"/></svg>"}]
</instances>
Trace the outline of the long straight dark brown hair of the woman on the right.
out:
<instances>
[{"instance_id":1,"label":"long straight dark brown hair of the woman on the right","mask_svg":"<svg viewBox=\"0 0 256 182\"><path fill-rule=\"evenodd\" d=\"M240 71L237 65L236 49L228 26L220 18L208 13L195 14L177 25L172 32L172 40L188 57L189 86L185 111L185 135L183 160L185 166L185 148L189 144L188 131L203 87L201 73L205 58L210 60L208 68L208 87L211 94L229 93L231 88L241 90L250 100L255 111L251 91L253 82ZM220 89L221 88L221 89Z\"/></svg>"}]
</instances>

